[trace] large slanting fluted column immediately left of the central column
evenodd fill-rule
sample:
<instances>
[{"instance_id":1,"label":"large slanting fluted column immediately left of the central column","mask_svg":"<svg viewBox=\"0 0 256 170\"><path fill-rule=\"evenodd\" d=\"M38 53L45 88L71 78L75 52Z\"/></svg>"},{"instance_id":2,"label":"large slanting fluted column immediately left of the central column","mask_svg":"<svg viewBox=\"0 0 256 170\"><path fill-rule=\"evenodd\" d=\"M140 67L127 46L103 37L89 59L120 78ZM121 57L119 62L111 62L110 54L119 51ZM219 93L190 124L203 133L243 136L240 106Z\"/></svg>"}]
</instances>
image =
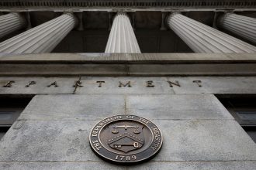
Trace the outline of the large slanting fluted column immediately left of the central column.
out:
<instances>
[{"instance_id":1,"label":"large slanting fluted column immediately left of the central column","mask_svg":"<svg viewBox=\"0 0 256 170\"><path fill-rule=\"evenodd\" d=\"M0 53L50 53L76 24L73 14L63 14L0 43Z\"/></svg>"}]
</instances>

